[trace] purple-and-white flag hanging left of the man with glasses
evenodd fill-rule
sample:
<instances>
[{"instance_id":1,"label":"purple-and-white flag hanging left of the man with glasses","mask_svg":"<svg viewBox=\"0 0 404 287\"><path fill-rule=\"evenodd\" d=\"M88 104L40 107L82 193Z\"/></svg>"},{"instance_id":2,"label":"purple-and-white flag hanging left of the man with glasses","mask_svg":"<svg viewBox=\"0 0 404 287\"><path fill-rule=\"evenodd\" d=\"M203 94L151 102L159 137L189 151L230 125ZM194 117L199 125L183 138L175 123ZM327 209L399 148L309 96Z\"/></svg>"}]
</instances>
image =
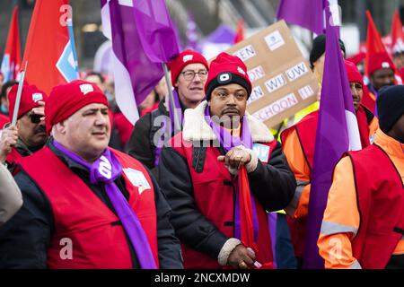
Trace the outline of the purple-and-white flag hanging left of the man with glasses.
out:
<instances>
[{"instance_id":1,"label":"purple-and-white flag hanging left of the man with glasses","mask_svg":"<svg viewBox=\"0 0 404 287\"><path fill-rule=\"evenodd\" d=\"M135 124L139 118L136 106L162 78L162 65L145 54L132 1L101 0L101 20L104 35L112 41L115 98L125 117Z\"/></svg>"}]
</instances>

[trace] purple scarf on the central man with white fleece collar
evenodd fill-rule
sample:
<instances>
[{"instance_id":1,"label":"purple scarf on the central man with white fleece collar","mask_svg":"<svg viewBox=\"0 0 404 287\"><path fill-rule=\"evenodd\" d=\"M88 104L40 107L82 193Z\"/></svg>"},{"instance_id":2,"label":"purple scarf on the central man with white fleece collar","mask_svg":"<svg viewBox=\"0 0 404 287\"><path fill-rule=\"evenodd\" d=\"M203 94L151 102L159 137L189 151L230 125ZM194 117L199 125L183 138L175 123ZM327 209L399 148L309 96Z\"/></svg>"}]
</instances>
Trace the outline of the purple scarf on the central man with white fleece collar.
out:
<instances>
[{"instance_id":1,"label":"purple scarf on the central man with white fleece collar","mask_svg":"<svg viewBox=\"0 0 404 287\"><path fill-rule=\"evenodd\" d=\"M246 148L252 148L252 138L250 135L250 127L247 123L247 117L242 117L242 137L230 135L224 128L221 128L212 120L209 114L209 107L206 106L205 109L205 120L206 123L212 128L214 131L216 138L219 139L220 145L224 148L225 152L229 152L233 147L238 145L243 145ZM258 239L258 230L259 230L259 222L257 216L257 210L255 207L254 197L250 193L251 196L251 207L252 207L252 222L254 227L254 239L257 242ZM241 219L240 219L240 197L239 197L239 185L237 185L237 193L236 193L236 206L235 206L235 220L234 220L234 234L238 239L242 239L241 232Z\"/></svg>"}]
</instances>

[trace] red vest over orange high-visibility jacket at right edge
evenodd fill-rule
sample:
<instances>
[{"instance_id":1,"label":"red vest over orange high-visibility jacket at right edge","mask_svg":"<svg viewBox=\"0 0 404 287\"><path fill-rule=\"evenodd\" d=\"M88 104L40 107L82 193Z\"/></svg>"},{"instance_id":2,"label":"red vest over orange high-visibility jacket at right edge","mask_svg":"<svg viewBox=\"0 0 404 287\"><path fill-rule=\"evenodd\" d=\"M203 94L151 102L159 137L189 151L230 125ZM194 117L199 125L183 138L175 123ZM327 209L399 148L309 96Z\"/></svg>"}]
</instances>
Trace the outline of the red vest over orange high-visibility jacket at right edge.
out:
<instances>
[{"instance_id":1,"label":"red vest over orange high-visibility jacket at right edge","mask_svg":"<svg viewBox=\"0 0 404 287\"><path fill-rule=\"evenodd\" d=\"M389 156L377 145L349 152L361 222L353 255L366 269L384 268L404 230L404 186Z\"/></svg>"}]
</instances>

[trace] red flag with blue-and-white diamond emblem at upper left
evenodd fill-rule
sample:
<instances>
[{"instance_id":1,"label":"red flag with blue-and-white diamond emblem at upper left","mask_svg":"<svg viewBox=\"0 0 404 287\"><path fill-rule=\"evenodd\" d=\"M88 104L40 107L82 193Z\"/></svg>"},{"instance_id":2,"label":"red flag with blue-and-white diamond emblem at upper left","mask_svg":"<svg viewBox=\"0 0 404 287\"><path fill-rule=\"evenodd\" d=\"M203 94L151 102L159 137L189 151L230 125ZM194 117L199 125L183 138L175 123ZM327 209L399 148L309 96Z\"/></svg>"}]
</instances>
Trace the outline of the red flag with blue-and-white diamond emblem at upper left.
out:
<instances>
[{"instance_id":1,"label":"red flag with blue-and-white diamond emblem at upper left","mask_svg":"<svg viewBox=\"0 0 404 287\"><path fill-rule=\"evenodd\" d=\"M78 78L71 10L68 0L37 0L32 13L22 65L28 61L25 80L47 93Z\"/></svg>"}]
</instances>

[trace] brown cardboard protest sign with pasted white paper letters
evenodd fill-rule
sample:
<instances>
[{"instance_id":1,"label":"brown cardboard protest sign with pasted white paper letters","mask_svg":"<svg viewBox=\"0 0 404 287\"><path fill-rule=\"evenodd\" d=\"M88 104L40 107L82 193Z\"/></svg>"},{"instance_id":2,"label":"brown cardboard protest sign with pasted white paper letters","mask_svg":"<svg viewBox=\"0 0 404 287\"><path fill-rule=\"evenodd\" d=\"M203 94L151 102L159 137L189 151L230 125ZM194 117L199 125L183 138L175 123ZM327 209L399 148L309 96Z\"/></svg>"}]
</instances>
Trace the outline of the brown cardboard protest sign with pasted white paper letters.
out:
<instances>
[{"instance_id":1,"label":"brown cardboard protest sign with pasted white paper letters","mask_svg":"<svg viewBox=\"0 0 404 287\"><path fill-rule=\"evenodd\" d=\"M268 127L317 100L319 85L285 21L276 22L225 52L247 65L248 112Z\"/></svg>"}]
</instances>

